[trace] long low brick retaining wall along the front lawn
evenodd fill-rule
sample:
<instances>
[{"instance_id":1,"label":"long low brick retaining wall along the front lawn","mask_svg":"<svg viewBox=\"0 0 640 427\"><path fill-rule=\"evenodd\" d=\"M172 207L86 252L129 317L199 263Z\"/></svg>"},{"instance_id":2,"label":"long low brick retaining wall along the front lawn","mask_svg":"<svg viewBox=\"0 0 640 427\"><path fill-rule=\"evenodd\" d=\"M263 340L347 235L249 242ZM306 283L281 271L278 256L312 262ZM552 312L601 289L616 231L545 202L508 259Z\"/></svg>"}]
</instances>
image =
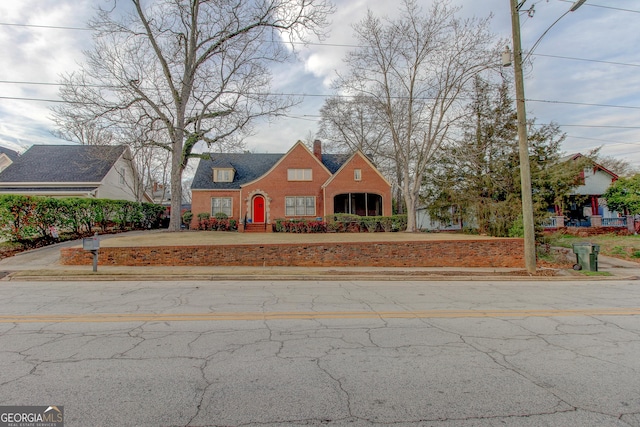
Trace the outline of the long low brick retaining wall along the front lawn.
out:
<instances>
[{"instance_id":1,"label":"long low brick retaining wall along the front lawn","mask_svg":"<svg viewBox=\"0 0 640 427\"><path fill-rule=\"evenodd\" d=\"M522 239L100 248L99 265L523 268ZM82 248L63 265L91 265Z\"/></svg>"}]
</instances>

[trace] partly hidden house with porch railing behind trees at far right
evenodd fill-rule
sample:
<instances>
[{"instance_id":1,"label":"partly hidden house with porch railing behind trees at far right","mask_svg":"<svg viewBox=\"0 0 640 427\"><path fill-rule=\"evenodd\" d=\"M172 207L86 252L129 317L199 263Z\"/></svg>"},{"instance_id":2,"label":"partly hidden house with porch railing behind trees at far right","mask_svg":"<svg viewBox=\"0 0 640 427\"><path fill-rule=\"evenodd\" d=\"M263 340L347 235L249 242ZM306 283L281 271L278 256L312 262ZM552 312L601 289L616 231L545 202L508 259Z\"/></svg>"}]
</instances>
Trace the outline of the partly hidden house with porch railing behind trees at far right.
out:
<instances>
[{"instance_id":1,"label":"partly hidden house with porch railing behind trees at far right","mask_svg":"<svg viewBox=\"0 0 640 427\"><path fill-rule=\"evenodd\" d=\"M566 161L576 161L582 158L580 153L565 158ZM602 195L618 179L618 175L605 167L594 163L580 172L581 184L571 191L569 202L564 211L555 207L558 216L564 216L565 226L594 226L617 225L620 215L607 209L607 202ZM557 224L561 226L560 224Z\"/></svg>"}]
</instances>

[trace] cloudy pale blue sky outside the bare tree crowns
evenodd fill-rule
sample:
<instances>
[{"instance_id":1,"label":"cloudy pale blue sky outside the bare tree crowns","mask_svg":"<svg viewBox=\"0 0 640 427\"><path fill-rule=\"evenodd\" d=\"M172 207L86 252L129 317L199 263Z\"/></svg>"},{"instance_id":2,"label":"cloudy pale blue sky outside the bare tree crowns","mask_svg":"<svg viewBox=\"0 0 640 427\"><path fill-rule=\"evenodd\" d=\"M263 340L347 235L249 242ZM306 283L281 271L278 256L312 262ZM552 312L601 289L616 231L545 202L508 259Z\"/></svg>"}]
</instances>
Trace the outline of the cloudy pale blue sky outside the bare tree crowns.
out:
<instances>
[{"instance_id":1,"label":"cloudy pale blue sky outside the bare tree crowns","mask_svg":"<svg viewBox=\"0 0 640 427\"><path fill-rule=\"evenodd\" d=\"M431 0L418 0L427 9ZM492 29L511 37L509 0L450 0L465 17L492 15ZM58 97L59 75L77 69L90 47L86 22L104 0L21 0L0 4L0 145L24 151L32 144L63 143L51 135L49 108ZM396 13L389 0L334 0L331 36L301 50L299 61L280 67L276 87L304 94L289 117L256 128L247 146L285 152L315 134L329 83L354 44L351 25L367 9ZM637 0L587 0L568 13L572 0L528 0L521 17L526 51L545 33L526 69L529 118L554 121L567 139L567 153L601 153L640 168L640 4ZM531 16L529 16L531 15ZM549 29L549 27L552 28ZM496 59L499 60L499 59ZM512 69L505 69L512 72Z\"/></svg>"}]
</instances>

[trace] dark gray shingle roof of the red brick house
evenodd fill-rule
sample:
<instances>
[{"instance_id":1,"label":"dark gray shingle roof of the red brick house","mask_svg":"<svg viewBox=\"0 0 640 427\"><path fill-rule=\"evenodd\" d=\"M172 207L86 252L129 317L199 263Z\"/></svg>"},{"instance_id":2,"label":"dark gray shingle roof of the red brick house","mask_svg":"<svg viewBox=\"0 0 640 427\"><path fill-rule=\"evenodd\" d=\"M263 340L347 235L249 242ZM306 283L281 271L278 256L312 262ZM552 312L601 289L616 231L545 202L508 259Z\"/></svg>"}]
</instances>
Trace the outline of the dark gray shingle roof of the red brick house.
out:
<instances>
[{"instance_id":1,"label":"dark gray shingle roof of the red brick house","mask_svg":"<svg viewBox=\"0 0 640 427\"><path fill-rule=\"evenodd\" d=\"M260 178L267 173L284 154L260 153L210 153L211 159L200 160L196 170L192 190L237 190L240 186ZM336 173L350 155L323 154L322 163L329 172ZM213 182L214 168L233 168L235 177L233 182Z\"/></svg>"}]
</instances>

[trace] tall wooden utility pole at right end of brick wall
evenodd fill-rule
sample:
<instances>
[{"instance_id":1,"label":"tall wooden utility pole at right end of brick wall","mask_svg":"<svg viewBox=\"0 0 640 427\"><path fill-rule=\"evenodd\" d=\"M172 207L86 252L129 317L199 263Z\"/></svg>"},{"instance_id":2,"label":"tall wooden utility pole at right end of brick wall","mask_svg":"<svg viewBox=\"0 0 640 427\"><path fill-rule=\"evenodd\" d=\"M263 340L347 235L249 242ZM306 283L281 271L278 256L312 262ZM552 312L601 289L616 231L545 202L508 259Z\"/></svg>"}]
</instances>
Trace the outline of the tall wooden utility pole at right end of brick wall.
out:
<instances>
[{"instance_id":1,"label":"tall wooden utility pole at right end of brick wall","mask_svg":"<svg viewBox=\"0 0 640 427\"><path fill-rule=\"evenodd\" d=\"M522 223L524 225L524 262L530 274L536 272L536 236L533 221L533 196L531 192L531 166L527 137L527 109L524 100L522 73L522 43L520 41L519 0L511 3L511 27L513 31L513 69L516 83L516 113L518 115L518 148L520 154L520 189L522 192ZM524 4L522 2L521 4Z\"/></svg>"}]
</instances>

